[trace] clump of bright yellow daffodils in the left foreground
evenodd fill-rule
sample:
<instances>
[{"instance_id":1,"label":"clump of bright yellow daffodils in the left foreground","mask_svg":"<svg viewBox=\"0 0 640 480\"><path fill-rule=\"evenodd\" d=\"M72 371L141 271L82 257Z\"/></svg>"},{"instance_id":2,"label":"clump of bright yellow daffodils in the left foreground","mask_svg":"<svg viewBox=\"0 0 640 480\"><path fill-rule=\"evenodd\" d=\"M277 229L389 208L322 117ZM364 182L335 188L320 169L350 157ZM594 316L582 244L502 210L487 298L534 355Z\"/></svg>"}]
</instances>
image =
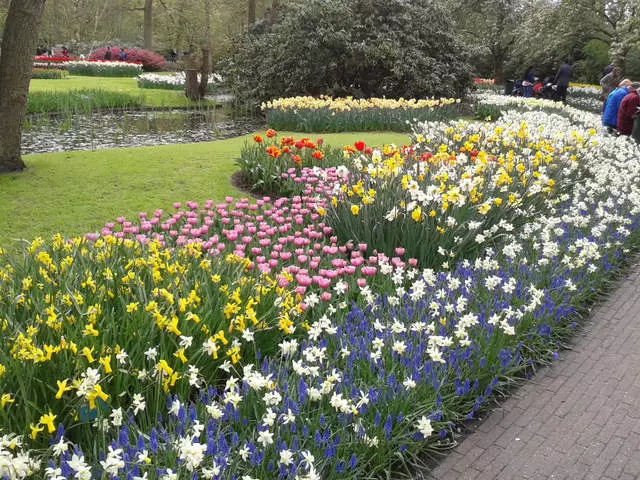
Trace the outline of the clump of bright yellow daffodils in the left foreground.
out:
<instances>
[{"instance_id":1,"label":"clump of bright yellow daffodils in the left foreground","mask_svg":"<svg viewBox=\"0 0 640 480\"><path fill-rule=\"evenodd\" d=\"M51 434L56 417L69 428L127 409L137 392L188 395L215 383L224 362L259 348L261 335L292 333L302 312L299 296L249 260L206 257L198 244L57 235L26 253L0 267L0 418L37 405L26 423L7 425L33 439ZM162 403L139 409L153 418L151 404Z\"/></svg>"}]
</instances>

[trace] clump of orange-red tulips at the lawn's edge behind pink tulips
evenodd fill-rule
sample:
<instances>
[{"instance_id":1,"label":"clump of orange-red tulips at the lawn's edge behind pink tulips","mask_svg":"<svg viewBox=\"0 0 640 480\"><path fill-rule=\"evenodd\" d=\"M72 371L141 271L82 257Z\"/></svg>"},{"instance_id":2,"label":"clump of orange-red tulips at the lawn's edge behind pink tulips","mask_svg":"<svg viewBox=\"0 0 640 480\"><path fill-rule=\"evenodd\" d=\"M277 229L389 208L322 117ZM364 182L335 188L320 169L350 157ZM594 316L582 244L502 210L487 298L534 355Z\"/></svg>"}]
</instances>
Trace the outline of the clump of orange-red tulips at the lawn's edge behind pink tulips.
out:
<instances>
[{"instance_id":1,"label":"clump of orange-red tulips at the lawn's edge behind pink tulips","mask_svg":"<svg viewBox=\"0 0 640 480\"><path fill-rule=\"evenodd\" d=\"M342 151L324 147L322 138L315 141L309 138L278 138L277 133L269 129L265 137L256 134L252 142L245 142L236 165L253 191L299 195L308 181L314 181L310 169L336 167L342 162Z\"/></svg>"}]
</instances>

